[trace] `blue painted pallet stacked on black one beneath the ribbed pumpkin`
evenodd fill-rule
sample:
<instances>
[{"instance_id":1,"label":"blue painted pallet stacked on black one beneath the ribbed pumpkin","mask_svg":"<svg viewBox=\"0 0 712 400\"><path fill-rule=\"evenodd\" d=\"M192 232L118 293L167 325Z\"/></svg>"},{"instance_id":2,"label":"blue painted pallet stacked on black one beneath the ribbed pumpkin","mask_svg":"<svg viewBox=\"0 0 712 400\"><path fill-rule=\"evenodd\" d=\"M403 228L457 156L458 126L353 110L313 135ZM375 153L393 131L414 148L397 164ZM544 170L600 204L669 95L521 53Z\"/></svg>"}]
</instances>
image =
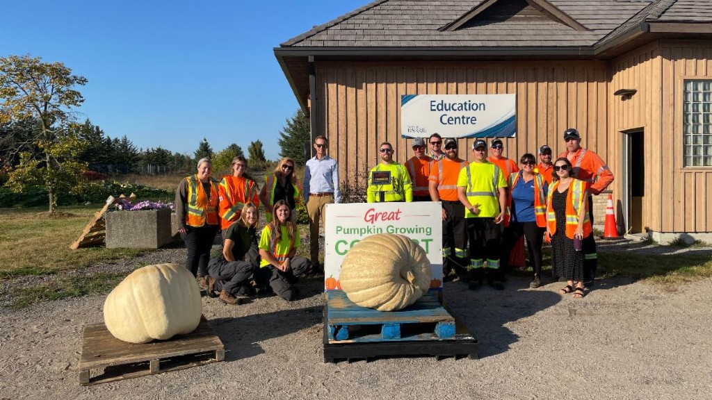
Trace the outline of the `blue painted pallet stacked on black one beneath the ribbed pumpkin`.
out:
<instances>
[{"instance_id":1,"label":"blue painted pallet stacked on black one beneath the ribbed pumpkin","mask_svg":"<svg viewBox=\"0 0 712 400\"><path fill-rule=\"evenodd\" d=\"M349 300L342 290L326 293L330 343L454 340L455 318L428 293L404 310L378 311Z\"/></svg>"}]
</instances>

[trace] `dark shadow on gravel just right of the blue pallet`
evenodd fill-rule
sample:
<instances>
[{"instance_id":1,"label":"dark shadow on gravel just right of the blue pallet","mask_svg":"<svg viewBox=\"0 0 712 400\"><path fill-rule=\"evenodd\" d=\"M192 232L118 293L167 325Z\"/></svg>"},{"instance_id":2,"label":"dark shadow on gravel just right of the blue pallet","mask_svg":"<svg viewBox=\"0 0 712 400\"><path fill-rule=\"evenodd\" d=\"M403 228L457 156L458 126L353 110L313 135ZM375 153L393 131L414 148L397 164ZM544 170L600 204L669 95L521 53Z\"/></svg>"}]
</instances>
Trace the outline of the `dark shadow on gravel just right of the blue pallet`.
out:
<instances>
[{"instance_id":1,"label":"dark shadow on gravel just right of the blue pallet","mask_svg":"<svg viewBox=\"0 0 712 400\"><path fill-rule=\"evenodd\" d=\"M480 344L480 358L506 352L519 337L505 325L530 317L561 301L549 290L529 289L531 278L508 277L505 290L468 290L466 283L446 283L445 301ZM550 280L545 284L549 284ZM565 285L565 284L564 284Z\"/></svg>"}]
</instances>

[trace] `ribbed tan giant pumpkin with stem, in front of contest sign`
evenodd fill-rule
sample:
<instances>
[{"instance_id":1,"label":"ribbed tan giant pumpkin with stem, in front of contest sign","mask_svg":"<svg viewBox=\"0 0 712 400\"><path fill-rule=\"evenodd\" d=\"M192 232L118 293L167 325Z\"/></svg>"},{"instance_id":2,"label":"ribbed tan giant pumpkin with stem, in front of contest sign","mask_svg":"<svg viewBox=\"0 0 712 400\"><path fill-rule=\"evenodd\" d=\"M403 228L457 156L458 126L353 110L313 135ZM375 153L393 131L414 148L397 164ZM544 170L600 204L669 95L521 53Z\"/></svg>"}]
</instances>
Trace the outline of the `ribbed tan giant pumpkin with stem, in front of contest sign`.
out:
<instances>
[{"instance_id":1,"label":"ribbed tan giant pumpkin with stem, in front of contest sign","mask_svg":"<svg viewBox=\"0 0 712 400\"><path fill-rule=\"evenodd\" d=\"M341 264L339 283L349 300L379 311L401 310L430 288L430 261L403 235L379 233L356 243Z\"/></svg>"}]
</instances>

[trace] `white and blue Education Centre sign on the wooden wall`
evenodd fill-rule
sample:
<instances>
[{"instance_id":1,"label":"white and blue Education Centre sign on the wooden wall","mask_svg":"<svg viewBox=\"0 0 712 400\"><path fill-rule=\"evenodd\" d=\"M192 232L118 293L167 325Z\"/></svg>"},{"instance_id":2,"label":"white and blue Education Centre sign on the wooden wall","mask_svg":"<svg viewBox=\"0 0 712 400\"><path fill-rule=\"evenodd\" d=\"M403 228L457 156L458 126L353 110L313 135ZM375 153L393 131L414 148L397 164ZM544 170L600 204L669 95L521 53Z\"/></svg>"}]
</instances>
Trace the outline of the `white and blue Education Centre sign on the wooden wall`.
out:
<instances>
[{"instance_id":1,"label":"white and blue Education Centre sign on the wooden wall","mask_svg":"<svg viewBox=\"0 0 712 400\"><path fill-rule=\"evenodd\" d=\"M516 95L403 95L403 137L515 137Z\"/></svg>"}]
</instances>

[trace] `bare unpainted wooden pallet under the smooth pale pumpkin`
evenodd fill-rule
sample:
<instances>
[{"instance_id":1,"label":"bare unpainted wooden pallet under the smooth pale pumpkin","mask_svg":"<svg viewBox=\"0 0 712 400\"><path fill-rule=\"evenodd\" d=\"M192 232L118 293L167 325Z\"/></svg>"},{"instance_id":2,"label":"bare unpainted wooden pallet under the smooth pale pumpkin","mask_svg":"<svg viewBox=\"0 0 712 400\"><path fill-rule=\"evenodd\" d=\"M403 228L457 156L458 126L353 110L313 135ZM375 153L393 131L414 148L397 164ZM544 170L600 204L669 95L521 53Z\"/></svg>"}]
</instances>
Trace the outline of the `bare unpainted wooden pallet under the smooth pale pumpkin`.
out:
<instances>
[{"instance_id":1,"label":"bare unpainted wooden pallet under the smooth pale pumpkin","mask_svg":"<svg viewBox=\"0 0 712 400\"><path fill-rule=\"evenodd\" d=\"M205 317L188 335L145 344L118 340L104 324L87 325L79 360L79 383L90 385L143 377L224 359L225 347Z\"/></svg>"}]
</instances>

